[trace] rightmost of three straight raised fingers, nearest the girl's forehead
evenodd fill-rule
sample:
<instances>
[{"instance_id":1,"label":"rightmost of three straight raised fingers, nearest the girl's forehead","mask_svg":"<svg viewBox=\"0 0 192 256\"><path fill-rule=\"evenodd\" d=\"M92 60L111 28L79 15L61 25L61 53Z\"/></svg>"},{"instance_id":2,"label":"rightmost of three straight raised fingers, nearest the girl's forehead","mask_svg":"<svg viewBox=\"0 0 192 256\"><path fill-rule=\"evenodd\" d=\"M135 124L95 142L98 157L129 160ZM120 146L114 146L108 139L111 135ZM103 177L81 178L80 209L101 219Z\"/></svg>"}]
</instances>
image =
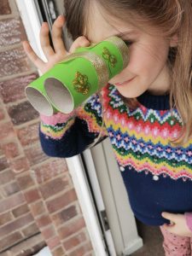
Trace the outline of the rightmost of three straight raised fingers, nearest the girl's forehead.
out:
<instances>
[{"instance_id":1,"label":"rightmost of three straight raised fingers, nearest the girl's forehead","mask_svg":"<svg viewBox=\"0 0 192 256\"><path fill-rule=\"evenodd\" d=\"M54 24L52 26L52 40L53 45L56 53L64 53L66 52L65 45L63 44L62 39L62 27L65 24L65 18L64 16L60 15L58 18L54 21Z\"/></svg>"}]
</instances>

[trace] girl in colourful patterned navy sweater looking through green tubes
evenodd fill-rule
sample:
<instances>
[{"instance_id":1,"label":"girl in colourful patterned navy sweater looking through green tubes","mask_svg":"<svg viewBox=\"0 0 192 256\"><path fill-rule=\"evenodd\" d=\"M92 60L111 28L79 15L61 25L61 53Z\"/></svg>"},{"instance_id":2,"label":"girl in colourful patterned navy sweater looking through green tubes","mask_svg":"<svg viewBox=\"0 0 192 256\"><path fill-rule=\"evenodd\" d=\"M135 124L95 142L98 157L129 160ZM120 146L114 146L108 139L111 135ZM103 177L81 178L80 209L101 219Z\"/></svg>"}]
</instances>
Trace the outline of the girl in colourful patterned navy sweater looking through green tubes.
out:
<instances>
[{"instance_id":1,"label":"girl in colourful patterned navy sweater looking through green tubes","mask_svg":"<svg viewBox=\"0 0 192 256\"><path fill-rule=\"evenodd\" d=\"M65 19L40 39L44 73L80 46L117 35L130 49L127 67L71 114L41 116L40 140L49 156L71 157L109 137L132 211L160 226L166 255L192 255L192 8L191 0L65 0L69 52L61 40Z\"/></svg>"}]
</instances>

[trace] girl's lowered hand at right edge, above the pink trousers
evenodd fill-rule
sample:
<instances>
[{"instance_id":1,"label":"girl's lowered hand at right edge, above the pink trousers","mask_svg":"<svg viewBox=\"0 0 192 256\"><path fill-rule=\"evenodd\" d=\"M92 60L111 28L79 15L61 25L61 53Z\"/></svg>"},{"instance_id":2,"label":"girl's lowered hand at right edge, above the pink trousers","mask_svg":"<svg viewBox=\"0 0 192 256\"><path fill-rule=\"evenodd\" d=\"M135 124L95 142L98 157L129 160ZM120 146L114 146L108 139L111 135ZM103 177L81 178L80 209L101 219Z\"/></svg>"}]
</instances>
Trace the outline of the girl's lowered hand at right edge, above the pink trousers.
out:
<instances>
[{"instance_id":1,"label":"girl's lowered hand at right edge, above the pink trousers","mask_svg":"<svg viewBox=\"0 0 192 256\"><path fill-rule=\"evenodd\" d=\"M189 236L192 237L192 232L186 223L184 214L175 214L170 212L162 212L163 218L169 219L171 224L163 224L163 227L173 234L178 236Z\"/></svg>"}]
</instances>

